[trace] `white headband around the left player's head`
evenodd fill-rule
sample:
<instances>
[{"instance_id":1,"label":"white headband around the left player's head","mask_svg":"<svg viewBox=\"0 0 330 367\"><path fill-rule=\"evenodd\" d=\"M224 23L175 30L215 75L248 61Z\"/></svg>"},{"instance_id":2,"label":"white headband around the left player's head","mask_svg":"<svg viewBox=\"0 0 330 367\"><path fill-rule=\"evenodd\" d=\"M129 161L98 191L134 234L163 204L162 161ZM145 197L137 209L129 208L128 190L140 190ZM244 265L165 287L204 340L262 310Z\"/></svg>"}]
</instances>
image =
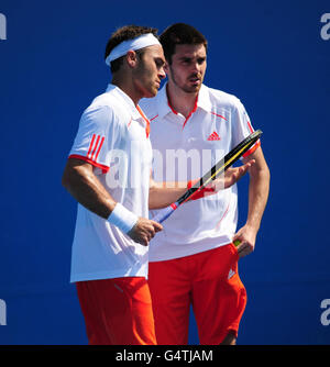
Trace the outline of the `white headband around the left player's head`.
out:
<instances>
[{"instance_id":1,"label":"white headband around the left player's head","mask_svg":"<svg viewBox=\"0 0 330 367\"><path fill-rule=\"evenodd\" d=\"M125 55L129 51L136 51L160 44L160 41L152 33L143 34L133 40L123 41L111 51L111 53L106 58L106 64L110 66L111 62Z\"/></svg>"}]
</instances>

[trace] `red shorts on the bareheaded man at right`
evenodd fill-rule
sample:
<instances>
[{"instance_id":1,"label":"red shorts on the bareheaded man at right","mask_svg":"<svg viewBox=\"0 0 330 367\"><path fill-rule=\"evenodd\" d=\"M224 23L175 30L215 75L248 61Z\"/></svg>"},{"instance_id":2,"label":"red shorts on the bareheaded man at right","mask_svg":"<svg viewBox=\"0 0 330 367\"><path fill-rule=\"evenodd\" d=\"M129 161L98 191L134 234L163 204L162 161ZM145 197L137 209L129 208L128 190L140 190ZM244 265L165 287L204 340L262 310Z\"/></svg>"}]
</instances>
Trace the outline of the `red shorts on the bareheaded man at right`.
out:
<instances>
[{"instance_id":1,"label":"red shorts on the bareheaded man at right","mask_svg":"<svg viewBox=\"0 0 330 367\"><path fill-rule=\"evenodd\" d=\"M218 345L228 333L238 336L246 291L238 274L233 244L191 256L150 263L148 283L160 345L188 343L193 304L202 345Z\"/></svg>"}]
</instances>

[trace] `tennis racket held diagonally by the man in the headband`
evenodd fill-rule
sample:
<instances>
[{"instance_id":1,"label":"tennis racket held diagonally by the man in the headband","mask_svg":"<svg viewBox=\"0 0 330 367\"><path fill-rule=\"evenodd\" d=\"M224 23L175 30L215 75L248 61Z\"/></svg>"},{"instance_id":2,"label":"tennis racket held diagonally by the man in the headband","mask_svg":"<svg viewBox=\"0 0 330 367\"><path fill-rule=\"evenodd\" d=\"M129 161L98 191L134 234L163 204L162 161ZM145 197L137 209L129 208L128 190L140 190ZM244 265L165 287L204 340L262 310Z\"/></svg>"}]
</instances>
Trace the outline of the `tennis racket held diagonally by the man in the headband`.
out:
<instances>
[{"instance_id":1,"label":"tennis racket held diagonally by the man in the headband","mask_svg":"<svg viewBox=\"0 0 330 367\"><path fill-rule=\"evenodd\" d=\"M185 201L191 199L194 193L199 189L208 186L212 180L223 174L230 166L232 166L241 156L250 149L250 147L256 143L262 134L261 130L256 130L248 137L245 137L239 145L230 151L222 159L220 159L207 174L205 174L194 186L191 186L176 202L166 207L160 213L157 213L153 221L162 223L164 222L179 205Z\"/></svg>"}]
</instances>

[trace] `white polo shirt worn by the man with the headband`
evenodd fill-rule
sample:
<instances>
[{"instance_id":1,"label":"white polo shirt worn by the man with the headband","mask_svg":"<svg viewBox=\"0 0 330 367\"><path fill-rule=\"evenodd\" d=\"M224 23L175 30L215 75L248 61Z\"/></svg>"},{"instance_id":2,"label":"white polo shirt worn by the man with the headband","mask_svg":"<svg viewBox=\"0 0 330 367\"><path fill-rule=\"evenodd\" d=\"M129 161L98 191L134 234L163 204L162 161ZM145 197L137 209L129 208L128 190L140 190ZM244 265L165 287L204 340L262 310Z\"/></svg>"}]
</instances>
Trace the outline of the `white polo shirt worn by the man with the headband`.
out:
<instances>
[{"instance_id":1,"label":"white polo shirt worn by the man with the headband","mask_svg":"<svg viewBox=\"0 0 330 367\"><path fill-rule=\"evenodd\" d=\"M148 121L120 88L109 85L82 113L69 157L90 163L117 202L147 218ZM78 204L70 281L147 277L147 262L146 246Z\"/></svg>"}]
</instances>

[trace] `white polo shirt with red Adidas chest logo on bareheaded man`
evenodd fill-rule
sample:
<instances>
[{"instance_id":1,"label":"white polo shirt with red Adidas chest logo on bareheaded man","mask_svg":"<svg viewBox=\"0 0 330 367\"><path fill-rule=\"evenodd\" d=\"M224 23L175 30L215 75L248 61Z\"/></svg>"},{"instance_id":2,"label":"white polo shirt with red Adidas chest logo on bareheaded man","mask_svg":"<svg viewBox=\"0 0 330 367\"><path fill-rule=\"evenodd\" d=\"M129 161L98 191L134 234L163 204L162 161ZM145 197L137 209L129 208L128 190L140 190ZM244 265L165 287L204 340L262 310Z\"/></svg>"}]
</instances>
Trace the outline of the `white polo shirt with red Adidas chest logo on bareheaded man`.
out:
<instances>
[{"instance_id":1,"label":"white polo shirt with red Adidas chest logo on bareheaded man","mask_svg":"<svg viewBox=\"0 0 330 367\"><path fill-rule=\"evenodd\" d=\"M234 96L202 86L186 119L168 104L166 85L140 103L151 121L153 176L156 181L198 179L230 152L253 127ZM260 145L257 142L244 156ZM152 219L158 210L150 212ZM238 222L238 190L182 204L162 224L150 244L150 262L193 255L232 242Z\"/></svg>"}]
</instances>

